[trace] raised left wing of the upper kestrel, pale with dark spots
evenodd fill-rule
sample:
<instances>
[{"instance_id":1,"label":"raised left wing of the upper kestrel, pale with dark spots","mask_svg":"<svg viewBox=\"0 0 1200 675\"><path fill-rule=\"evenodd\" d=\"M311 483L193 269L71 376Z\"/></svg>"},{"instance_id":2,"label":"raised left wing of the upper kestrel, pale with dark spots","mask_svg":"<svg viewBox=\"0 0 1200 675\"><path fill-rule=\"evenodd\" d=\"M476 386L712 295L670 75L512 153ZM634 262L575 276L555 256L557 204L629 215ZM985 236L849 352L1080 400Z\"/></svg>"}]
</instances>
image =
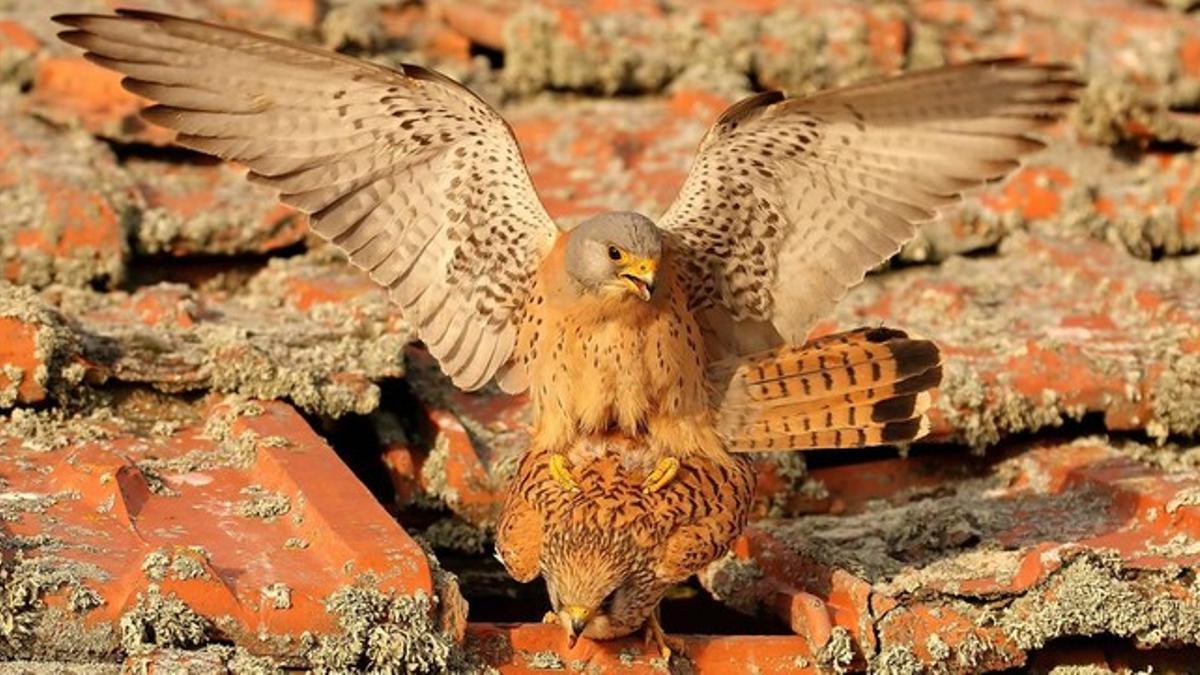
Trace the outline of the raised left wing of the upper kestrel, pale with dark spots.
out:
<instances>
[{"instance_id":1,"label":"raised left wing of the upper kestrel, pale with dark spots","mask_svg":"<svg viewBox=\"0 0 1200 675\"><path fill-rule=\"evenodd\" d=\"M179 144L245 165L308 214L388 288L456 384L520 368L520 313L558 228L484 101L421 67L154 12L54 19L157 102L143 117Z\"/></svg>"}]
</instances>

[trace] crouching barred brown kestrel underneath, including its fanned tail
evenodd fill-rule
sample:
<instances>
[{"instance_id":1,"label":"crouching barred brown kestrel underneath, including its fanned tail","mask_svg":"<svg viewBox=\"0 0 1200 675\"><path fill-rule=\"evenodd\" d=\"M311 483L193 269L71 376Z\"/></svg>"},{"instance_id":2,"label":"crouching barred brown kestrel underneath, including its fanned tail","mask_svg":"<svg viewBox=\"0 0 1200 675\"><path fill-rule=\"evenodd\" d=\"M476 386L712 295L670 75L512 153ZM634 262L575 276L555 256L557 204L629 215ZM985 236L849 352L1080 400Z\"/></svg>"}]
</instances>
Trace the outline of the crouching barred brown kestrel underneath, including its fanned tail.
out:
<instances>
[{"instance_id":1,"label":"crouching barred brown kestrel underneath, including its fanned tail","mask_svg":"<svg viewBox=\"0 0 1200 675\"><path fill-rule=\"evenodd\" d=\"M670 647L656 608L672 585L721 556L746 521L756 477L749 450L910 441L929 429L941 354L928 340L888 328L828 335L714 370L724 396L719 428L733 454L690 456L659 490L641 488L656 453L643 438L610 434L565 454L577 490L562 490L553 454L527 454L496 533L497 556L520 581L541 575L547 620L580 637L646 631Z\"/></svg>"}]
</instances>

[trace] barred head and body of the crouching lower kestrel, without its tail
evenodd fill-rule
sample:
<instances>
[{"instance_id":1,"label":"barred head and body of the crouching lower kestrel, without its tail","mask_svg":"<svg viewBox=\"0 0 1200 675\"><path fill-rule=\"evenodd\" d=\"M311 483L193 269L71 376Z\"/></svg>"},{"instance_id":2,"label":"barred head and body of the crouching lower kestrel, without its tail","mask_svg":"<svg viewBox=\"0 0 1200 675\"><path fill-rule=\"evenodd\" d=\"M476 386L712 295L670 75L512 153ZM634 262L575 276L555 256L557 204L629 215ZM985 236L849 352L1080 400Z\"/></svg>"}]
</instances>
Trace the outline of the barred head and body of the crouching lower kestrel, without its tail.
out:
<instances>
[{"instance_id":1,"label":"barred head and body of the crouching lower kestrel, without its tail","mask_svg":"<svg viewBox=\"0 0 1200 675\"><path fill-rule=\"evenodd\" d=\"M497 526L497 557L518 581L539 574L553 610L546 621L580 637L646 631L670 657L658 619L667 590L728 550L745 526L755 472L745 455L691 458L660 490L644 438L589 437L568 450L580 489L559 489L546 452L527 453Z\"/></svg>"}]
</instances>

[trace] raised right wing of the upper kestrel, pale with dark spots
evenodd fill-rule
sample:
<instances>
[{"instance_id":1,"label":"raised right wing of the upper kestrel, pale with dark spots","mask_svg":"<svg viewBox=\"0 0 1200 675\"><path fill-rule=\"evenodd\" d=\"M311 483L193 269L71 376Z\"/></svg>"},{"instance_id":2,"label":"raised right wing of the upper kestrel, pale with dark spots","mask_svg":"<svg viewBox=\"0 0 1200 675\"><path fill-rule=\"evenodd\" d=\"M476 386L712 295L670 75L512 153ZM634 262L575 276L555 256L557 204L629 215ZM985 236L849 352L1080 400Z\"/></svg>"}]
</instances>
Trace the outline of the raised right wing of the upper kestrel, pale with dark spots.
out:
<instances>
[{"instance_id":1,"label":"raised right wing of the upper kestrel, pale with dark spots","mask_svg":"<svg viewBox=\"0 0 1200 675\"><path fill-rule=\"evenodd\" d=\"M692 307L726 346L770 327L803 342L918 223L1042 148L1026 133L1079 86L1064 67L1006 59L732 106L660 222Z\"/></svg>"}]
</instances>

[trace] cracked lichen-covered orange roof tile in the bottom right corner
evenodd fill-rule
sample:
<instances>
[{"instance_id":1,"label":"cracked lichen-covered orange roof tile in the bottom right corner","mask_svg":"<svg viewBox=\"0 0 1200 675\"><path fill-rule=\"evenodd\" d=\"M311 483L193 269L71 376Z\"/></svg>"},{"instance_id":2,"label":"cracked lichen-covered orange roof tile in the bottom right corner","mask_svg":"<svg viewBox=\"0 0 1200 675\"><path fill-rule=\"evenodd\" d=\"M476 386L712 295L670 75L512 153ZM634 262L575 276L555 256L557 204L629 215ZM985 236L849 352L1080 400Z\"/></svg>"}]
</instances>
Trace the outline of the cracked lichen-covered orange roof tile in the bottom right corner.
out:
<instances>
[{"instance_id":1,"label":"cracked lichen-covered orange roof tile in the bottom right corner","mask_svg":"<svg viewBox=\"0 0 1200 675\"><path fill-rule=\"evenodd\" d=\"M887 471L876 464L859 476ZM1195 647L1200 598L1181 571L1200 563L1196 485L1103 438L1038 443L925 494L761 521L702 580L800 634L827 616L874 670L1018 668L1099 634Z\"/></svg>"}]
</instances>

